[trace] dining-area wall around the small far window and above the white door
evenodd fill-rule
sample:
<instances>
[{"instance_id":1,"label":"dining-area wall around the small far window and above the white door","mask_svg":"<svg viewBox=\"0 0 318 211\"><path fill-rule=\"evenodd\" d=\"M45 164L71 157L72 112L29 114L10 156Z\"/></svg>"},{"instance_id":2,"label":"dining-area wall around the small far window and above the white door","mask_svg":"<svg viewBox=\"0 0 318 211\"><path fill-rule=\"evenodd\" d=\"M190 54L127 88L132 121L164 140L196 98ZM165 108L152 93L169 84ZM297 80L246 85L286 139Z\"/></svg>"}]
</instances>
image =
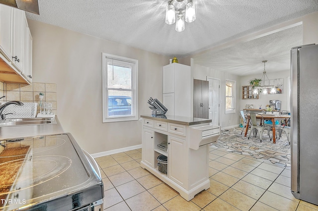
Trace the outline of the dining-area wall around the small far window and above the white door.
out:
<instances>
[{"instance_id":1,"label":"dining-area wall around the small far window and above the white door","mask_svg":"<svg viewBox=\"0 0 318 211\"><path fill-rule=\"evenodd\" d=\"M194 62L191 63L191 71L194 79L206 80L208 77L220 79L220 126L221 128L239 125L239 109L240 109L240 77L238 75L227 72L213 70ZM236 81L236 113L225 114L225 80Z\"/></svg>"}]
</instances>

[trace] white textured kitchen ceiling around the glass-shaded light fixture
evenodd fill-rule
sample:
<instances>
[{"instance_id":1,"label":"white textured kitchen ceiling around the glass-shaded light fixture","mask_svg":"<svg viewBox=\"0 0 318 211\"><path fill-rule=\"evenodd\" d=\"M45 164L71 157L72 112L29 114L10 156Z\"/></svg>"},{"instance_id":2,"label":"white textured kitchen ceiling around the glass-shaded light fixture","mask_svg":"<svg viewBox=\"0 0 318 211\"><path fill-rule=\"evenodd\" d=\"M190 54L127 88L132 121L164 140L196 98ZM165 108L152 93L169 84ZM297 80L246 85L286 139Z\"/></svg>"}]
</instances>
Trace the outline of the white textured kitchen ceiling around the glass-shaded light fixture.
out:
<instances>
[{"instance_id":1,"label":"white textured kitchen ceiling around the glass-shaded light fixture","mask_svg":"<svg viewBox=\"0 0 318 211\"><path fill-rule=\"evenodd\" d=\"M167 25L164 21L167 2L39 0L40 15L27 12L27 17L145 51L181 58L318 11L318 0L194 0L197 19L193 23L185 23L183 32L176 32L174 25ZM265 38L265 42L272 41ZM243 49L257 49L253 42L249 44L251 46L242 46ZM260 47L259 44L254 43ZM240 50L241 47L235 49L237 52L232 56L248 55L247 49L239 53ZM266 50L275 51L271 48ZM229 56L231 52L223 53ZM209 58L208 55L206 57ZM225 65L222 57L219 59L219 65ZM270 58L264 59L269 60L269 65Z\"/></svg>"}]
</instances>

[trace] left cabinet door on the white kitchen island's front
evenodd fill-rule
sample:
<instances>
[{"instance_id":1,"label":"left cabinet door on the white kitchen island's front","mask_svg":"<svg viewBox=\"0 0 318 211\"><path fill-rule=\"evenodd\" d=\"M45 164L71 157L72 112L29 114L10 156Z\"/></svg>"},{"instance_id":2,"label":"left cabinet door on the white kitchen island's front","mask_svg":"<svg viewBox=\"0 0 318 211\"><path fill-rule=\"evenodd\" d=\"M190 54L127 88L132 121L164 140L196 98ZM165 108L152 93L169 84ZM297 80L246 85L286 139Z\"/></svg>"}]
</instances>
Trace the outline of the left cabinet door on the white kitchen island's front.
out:
<instances>
[{"instance_id":1,"label":"left cabinet door on the white kitchen island's front","mask_svg":"<svg viewBox=\"0 0 318 211\"><path fill-rule=\"evenodd\" d=\"M142 159L149 166L154 167L154 131L143 129L143 150Z\"/></svg>"}]
</instances>

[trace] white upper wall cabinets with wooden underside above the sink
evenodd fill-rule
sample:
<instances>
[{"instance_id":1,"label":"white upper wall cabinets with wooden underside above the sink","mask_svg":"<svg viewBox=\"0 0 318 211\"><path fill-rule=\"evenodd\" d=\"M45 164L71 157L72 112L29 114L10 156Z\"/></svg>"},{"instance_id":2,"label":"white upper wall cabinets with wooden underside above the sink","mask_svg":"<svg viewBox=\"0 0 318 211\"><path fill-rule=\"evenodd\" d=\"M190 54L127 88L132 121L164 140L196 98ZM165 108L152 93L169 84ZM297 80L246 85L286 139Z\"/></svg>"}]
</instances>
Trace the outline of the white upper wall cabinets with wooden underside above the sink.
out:
<instances>
[{"instance_id":1,"label":"white upper wall cabinets with wooden underside above the sink","mask_svg":"<svg viewBox=\"0 0 318 211\"><path fill-rule=\"evenodd\" d=\"M32 36L25 12L0 4L0 81L32 83Z\"/></svg>"}]
</instances>

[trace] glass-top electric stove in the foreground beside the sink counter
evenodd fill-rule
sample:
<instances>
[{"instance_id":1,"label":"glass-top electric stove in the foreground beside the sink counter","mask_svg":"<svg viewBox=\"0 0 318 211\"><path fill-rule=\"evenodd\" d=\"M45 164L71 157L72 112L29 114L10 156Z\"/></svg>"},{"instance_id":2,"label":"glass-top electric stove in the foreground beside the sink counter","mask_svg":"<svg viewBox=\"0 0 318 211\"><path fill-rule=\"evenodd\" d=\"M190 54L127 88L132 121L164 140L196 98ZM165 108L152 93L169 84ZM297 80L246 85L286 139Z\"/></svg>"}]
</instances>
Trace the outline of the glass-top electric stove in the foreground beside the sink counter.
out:
<instances>
[{"instance_id":1,"label":"glass-top electric stove in the foreground beside the sink counter","mask_svg":"<svg viewBox=\"0 0 318 211\"><path fill-rule=\"evenodd\" d=\"M71 210L102 198L71 134L0 140L0 210Z\"/></svg>"}]
</instances>

